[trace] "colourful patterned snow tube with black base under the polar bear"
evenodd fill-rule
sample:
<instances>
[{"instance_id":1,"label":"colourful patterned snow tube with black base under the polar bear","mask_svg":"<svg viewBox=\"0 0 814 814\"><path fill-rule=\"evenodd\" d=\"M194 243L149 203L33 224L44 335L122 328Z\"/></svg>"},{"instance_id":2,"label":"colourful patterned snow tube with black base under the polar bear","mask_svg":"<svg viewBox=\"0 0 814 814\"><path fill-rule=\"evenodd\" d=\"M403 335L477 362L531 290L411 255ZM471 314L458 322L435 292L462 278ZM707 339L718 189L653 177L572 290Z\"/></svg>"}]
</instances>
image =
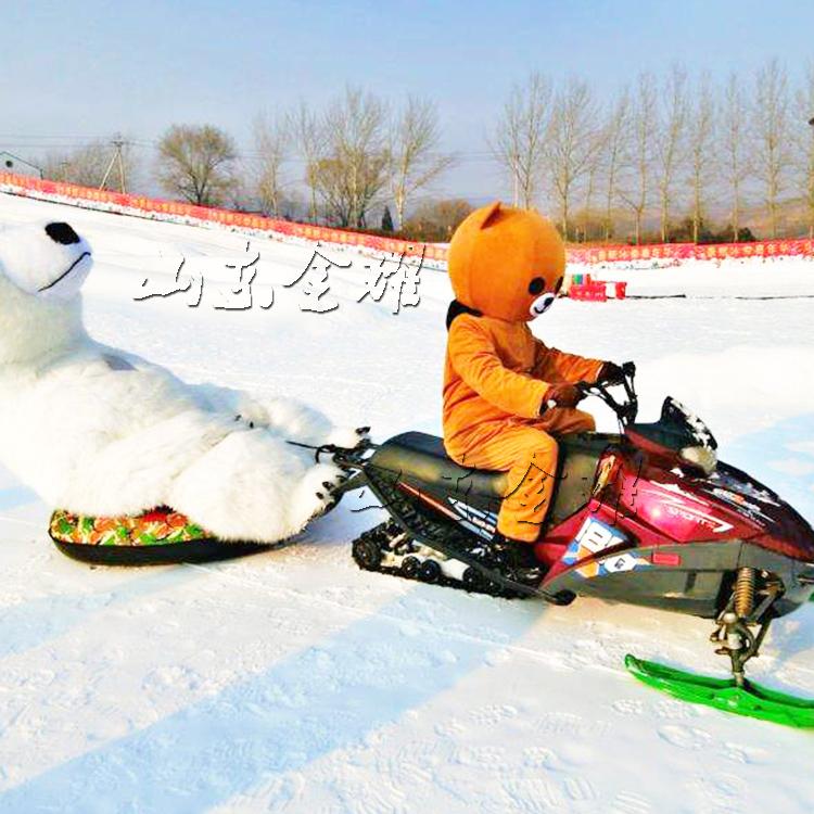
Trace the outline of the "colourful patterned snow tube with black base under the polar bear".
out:
<instances>
[{"instance_id":1,"label":"colourful patterned snow tube with black base under the polar bear","mask_svg":"<svg viewBox=\"0 0 814 814\"><path fill-rule=\"evenodd\" d=\"M167 507L115 518L58 509L51 516L49 534L68 557L115 565L222 560L269 547L259 543L226 543Z\"/></svg>"}]
</instances>

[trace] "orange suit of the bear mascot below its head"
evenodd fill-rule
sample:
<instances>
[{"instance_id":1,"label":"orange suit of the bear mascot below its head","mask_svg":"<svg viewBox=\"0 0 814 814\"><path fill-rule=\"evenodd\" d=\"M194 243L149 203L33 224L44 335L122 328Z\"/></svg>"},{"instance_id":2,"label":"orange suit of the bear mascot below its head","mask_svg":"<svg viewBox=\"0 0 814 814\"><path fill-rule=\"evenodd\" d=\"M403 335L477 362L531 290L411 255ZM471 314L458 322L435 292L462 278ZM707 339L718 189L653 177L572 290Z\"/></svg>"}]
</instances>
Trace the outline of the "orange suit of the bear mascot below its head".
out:
<instances>
[{"instance_id":1,"label":"orange suit of the bear mascot below its head","mask_svg":"<svg viewBox=\"0 0 814 814\"><path fill-rule=\"evenodd\" d=\"M577 409L539 415L554 382L596 381L602 361L546 347L526 322L462 314L447 339L444 445L458 463L508 471L498 517L506 537L534 543L554 492L552 435L594 429Z\"/></svg>"}]
</instances>

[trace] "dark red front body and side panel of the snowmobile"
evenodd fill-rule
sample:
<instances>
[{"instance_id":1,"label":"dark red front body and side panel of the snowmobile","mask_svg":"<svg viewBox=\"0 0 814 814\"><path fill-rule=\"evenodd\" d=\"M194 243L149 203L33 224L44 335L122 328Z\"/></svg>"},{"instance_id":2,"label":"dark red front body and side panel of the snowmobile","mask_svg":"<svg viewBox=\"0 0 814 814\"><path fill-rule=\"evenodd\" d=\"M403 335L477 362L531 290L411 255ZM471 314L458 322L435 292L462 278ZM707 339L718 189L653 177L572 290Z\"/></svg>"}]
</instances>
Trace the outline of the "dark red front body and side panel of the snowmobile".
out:
<instances>
[{"instance_id":1,"label":"dark red front body and side panel of the snowmobile","mask_svg":"<svg viewBox=\"0 0 814 814\"><path fill-rule=\"evenodd\" d=\"M775 615L805 602L814 590L814 532L805 520L734 467L718 463L710 474L679 468L637 429L605 440L577 511L562 517L555 506L536 546L549 565L540 588L715 618L735 574L749 567L781 581ZM571 455L561 472L565 492L575 487L568 484Z\"/></svg>"}]
</instances>

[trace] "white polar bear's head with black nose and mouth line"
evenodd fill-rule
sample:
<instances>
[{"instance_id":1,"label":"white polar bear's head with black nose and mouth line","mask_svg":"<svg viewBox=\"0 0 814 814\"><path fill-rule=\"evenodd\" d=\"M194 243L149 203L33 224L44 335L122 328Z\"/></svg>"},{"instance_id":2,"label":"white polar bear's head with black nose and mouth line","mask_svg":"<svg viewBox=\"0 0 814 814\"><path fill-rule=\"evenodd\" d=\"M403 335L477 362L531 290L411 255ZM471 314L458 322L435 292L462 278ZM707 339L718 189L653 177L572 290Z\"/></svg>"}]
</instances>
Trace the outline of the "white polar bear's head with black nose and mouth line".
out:
<instances>
[{"instance_id":1,"label":"white polar bear's head with black nose and mouth line","mask_svg":"<svg viewBox=\"0 0 814 814\"><path fill-rule=\"evenodd\" d=\"M0 365L34 361L82 339L90 246L64 222L0 232Z\"/></svg>"}]
</instances>

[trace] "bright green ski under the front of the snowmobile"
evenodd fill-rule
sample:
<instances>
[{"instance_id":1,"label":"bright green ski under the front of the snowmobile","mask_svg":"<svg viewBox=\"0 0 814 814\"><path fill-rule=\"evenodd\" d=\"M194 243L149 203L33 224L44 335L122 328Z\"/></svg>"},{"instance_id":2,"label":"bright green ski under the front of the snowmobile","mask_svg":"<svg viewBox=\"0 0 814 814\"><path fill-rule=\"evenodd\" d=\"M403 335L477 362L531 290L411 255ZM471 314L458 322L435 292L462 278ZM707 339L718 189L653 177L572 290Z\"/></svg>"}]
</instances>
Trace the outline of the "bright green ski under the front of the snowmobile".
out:
<instances>
[{"instance_id":1,"label":"bright green ski under the front of the snowmobile","mask_svg":"<svg viewBox=\"0 0 814 814\"><path fill-rule=\"evenodd\" d=\"M784 726L814 727L814 699L796 698L749 681L743 687L738 687L734 678L694 675L629 653L625 656L625 666L640 682L683 701L703 703Z\"/></svg>"}]
</instances>

